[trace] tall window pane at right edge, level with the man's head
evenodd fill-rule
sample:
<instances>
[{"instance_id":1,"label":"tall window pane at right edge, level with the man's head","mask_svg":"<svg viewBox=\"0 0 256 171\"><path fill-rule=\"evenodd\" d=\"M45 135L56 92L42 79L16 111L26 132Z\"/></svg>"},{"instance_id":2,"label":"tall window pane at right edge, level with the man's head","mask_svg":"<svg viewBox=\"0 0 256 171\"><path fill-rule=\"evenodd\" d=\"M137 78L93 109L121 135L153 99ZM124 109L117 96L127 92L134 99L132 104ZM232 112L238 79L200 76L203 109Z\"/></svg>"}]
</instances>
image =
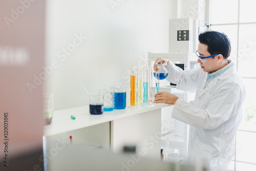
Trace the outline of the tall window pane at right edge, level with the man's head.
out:
<instances>
[{"instance_id":1,"label":"tall window pane at right edge, level with the man's head","mask_svg":"<svg viewBox=\"0 0 256 171\"><path fill-rule=\"evenodd\" d=\"M238 72L244 77L256 77L256 24L240 25Z\"/></svg>"}]
</instances>

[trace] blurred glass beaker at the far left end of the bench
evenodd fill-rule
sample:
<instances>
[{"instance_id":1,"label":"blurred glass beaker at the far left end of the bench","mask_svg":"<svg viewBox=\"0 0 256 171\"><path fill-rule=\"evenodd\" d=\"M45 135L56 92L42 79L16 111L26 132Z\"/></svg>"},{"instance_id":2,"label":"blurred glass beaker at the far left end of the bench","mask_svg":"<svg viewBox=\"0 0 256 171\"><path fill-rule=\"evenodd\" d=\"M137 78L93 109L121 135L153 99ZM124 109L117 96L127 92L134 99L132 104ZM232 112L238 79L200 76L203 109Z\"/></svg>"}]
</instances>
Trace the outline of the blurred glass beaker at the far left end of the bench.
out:
<instances>
[{"instance_id":1,"label":"blurred glass beaker at the far left end of the bench","mask_svg":"<svg viewBox=\"0 0 256 171\"><path fill-rule=\"evenodd\" d=\"M53 94L51 93L44 93L44 124L48 125L52 122L53 117Z\"/></svg>"}]
</instances>

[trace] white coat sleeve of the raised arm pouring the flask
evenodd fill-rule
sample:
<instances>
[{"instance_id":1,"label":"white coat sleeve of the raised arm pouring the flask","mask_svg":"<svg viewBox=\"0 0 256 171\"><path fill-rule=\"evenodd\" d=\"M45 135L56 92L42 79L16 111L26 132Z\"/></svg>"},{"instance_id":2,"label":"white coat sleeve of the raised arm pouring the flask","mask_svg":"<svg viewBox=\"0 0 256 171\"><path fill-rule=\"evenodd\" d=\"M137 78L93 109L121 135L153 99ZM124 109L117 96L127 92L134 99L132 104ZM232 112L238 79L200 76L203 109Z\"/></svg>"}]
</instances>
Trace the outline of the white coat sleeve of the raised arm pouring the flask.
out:
<instances>
[{"instance_id":1,"label":"white coat sleeve of the raised arm pouring the flask","mask_svg":"<svg viewBox=\"0 0 256 171\"><path fill-rule=\"evenodd\" d=\"M177 84L177 89L183 91L196 90L200 68L183 71L180 67L177 67L173 62L169 61L166 69L168 71L168 76L165 79L169 82Z\"/></svg>"}]
</instances>

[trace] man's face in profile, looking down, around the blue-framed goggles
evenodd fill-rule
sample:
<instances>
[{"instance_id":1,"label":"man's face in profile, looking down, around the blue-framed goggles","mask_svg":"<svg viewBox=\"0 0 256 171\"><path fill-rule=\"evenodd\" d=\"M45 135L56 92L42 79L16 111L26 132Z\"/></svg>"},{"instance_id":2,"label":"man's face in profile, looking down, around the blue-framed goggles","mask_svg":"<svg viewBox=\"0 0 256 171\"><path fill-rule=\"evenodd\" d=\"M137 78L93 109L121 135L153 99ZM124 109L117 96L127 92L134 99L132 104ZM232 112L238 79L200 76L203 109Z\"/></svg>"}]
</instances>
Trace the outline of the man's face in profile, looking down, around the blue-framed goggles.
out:
<instances>
[{"instance_id":1,"label":"man's face in profile, looking down, around the blue-framed goggles","mask_svg":"<svg viewBox=\"0 0 256 171\"><path fill-rule=\"evenodd\" d=\"M210 56L211 54L207 51L208 46L205 44L199 43L198 45L198 53L200 54L201 57L207 57ZM200 63L201 68L203 69L204 72L215 72L217 71L217 56L214 57L209 57L207 58L206 62L202 62L200 59L197 60L198 63Z\"/></svg>"}]
</instances>

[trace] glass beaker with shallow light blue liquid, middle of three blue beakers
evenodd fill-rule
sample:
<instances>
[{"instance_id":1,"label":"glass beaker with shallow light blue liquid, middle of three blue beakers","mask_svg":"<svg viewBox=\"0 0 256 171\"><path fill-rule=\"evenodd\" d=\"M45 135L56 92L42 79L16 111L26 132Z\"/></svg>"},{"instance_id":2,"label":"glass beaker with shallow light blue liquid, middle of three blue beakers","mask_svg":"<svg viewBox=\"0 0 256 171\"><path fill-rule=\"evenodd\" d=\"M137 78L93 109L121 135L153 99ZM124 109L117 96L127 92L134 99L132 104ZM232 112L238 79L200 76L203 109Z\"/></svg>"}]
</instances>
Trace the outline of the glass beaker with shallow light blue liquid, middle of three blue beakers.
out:
<instances>
[{"instance_id":1,"label":"glass beaker with shallow light blue liquid, middle of three blue beakers","mask_svg":"<svg viewBox=\"0 0 256 171\"><path fill-rule=\"evenodd\" d=\"M99 94L103 96L104 111L114 110L114 92L113 88L100 88Z\"/></svg>"}]
</instances>

